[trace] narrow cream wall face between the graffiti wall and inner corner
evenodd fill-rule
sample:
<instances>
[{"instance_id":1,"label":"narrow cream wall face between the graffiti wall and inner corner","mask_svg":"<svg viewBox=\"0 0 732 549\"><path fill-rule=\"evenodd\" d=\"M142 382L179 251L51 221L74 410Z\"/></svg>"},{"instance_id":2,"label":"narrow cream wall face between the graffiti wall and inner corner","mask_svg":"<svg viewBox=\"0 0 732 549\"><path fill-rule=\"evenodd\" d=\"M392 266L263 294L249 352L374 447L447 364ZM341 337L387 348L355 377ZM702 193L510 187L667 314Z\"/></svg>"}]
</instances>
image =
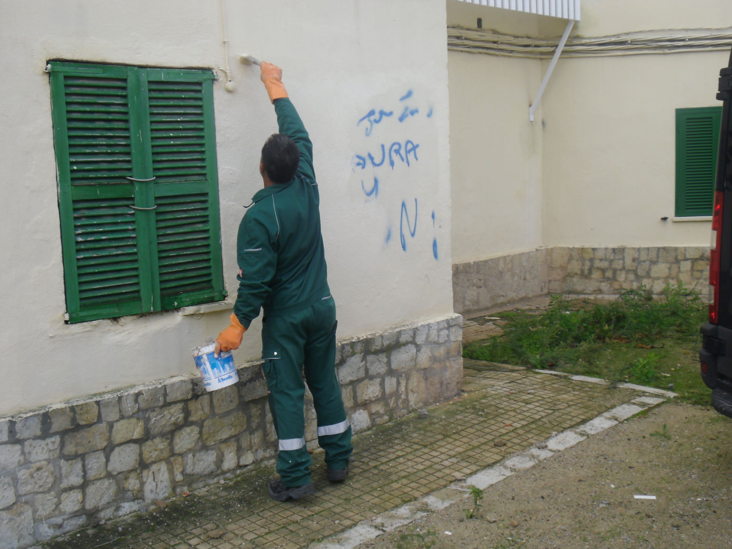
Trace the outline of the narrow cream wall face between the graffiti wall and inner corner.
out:
<instances>
[{"instance_id":1,"label":"narrow cream wall face between the graffiti wall and inner corner","mask_svg":"<svg viewBox=\"0 0 732 549\"><path fill-rule=\"evenodd\" d=\"M537 34L536 15L448 1L449 24ZM542 132L529 122L537 59L449 51L452 261L542 244Z\"/></svg>"}]
</instances>

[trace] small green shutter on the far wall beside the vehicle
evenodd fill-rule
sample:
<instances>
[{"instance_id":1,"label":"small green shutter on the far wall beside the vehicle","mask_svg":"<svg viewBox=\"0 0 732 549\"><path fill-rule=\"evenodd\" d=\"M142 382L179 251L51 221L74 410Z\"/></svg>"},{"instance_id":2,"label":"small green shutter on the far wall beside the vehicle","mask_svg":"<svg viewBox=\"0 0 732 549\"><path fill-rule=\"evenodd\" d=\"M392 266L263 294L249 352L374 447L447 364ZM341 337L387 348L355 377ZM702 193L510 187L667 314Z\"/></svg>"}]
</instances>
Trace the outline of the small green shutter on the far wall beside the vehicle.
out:
<instances>
[{"instance_id":1,"label":"small green shutter on the far wall beside the vehicle","mask_svg":"<svg viewBox=\"0 0 732 549\"><path fill-rule=\"evenodd\" d=\"M721 107L676 109L676 217L712 215Z\"/></svg>"}]
</instances>

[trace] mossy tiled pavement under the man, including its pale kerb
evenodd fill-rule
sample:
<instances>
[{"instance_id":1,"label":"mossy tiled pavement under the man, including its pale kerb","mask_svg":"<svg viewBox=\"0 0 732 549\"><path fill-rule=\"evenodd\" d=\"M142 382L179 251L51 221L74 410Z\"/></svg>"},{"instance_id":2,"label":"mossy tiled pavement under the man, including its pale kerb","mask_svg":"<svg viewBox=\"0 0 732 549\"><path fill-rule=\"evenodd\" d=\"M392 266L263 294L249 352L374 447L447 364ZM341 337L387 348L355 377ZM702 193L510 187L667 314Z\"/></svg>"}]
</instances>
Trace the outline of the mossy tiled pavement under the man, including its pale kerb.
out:
<instances>
[{"instance_id":1,"label":"mossy tiled pavement under the man, including its pale kerb","mask_svg":"<svg viewBox=\"0 0 732 549\"><path fill-rule=\"evenodd\" d=\"M591 434L587 427L597 427L591 422L602 414L624 419L657 400L639 402L649 396L642 387L613 388L468 359L464 375L463 394L428 408L425 419L415 412L354 436L346 482L327 481L323 453L316 451L315 496L273 501L266 494L273 468L246 468L162 509L108 520L41 547L354 547L452 503L458 498L452 490L465 493L466 479L481 486L499 482L512 464L529 466ZM581 434L572 430L580 426ZM539 452L537 444L548 449Z\"/></svg>"}]
</instances>

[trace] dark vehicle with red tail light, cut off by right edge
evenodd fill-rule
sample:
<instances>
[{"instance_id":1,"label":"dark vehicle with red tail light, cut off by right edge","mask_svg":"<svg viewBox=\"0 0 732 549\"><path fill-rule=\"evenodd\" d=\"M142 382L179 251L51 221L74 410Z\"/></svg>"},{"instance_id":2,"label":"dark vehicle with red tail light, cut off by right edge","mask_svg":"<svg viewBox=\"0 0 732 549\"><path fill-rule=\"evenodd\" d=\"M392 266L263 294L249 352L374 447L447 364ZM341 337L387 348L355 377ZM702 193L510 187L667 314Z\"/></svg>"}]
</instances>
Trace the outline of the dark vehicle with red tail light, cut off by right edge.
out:
<instances>
[{"instance_id":1,"label":"dark vehicle with red tail light, cut off by right edge","mask_svg":"<svg viewBox=\"0 0 732 549\"><path fill-rule=\"evenodd\" d=\"M701 378L712 389L712 405L732 417L732 53L720 70L720 148L714 179L712 250L709 258L709 322L702 324Z\"/></svg>"}]
</instances>

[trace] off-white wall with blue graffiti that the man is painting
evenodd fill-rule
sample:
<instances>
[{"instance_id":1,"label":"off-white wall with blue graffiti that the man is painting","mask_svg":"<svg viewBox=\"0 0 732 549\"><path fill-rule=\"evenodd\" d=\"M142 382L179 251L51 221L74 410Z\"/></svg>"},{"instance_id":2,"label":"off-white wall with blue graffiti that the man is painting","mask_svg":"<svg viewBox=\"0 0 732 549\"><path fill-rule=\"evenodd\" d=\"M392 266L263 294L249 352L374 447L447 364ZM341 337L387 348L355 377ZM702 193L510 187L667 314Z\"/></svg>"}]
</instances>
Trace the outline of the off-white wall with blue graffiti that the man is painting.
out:
<instances>
[{"instance_id":1,"label":"off-white wall with blue graffiti that the man is painting","mask_svg":"<svg viewBox=\"0 0 732 549\"><path fill-rule=\"evenodd\" d=\"M230 94L222 81L214 83L214 106L229 294L236 295L242 206L261 187L261 143L276 131L258 70L236 61L247 52L283 67L291 99L313 139L338 336L450 313L444 0L225 0L224 5L237 89ZM64 324L51 97L43 72L48 59L215 69L224 62L220 25L216 0L0 3L5 75L0 83L5 203L0 373L6 387L0 414L193 373L190 349L227 324L228 311ZM411 98L400 102L409 90ZM354 154L375 141L364 141L364 123L357 122L371 108L407 103L419 113L403 123L397 116L385 119L370 137L419 143L419 160L384 171L382 192L367 197ZM402 223L403 250L401 202L414 206L415 198L417 225L414 217L406 227ZM412 215L409 208L407 214ZM237 362L259 356L258 326L244 335Z\"/></svg>"}]
</instances>

